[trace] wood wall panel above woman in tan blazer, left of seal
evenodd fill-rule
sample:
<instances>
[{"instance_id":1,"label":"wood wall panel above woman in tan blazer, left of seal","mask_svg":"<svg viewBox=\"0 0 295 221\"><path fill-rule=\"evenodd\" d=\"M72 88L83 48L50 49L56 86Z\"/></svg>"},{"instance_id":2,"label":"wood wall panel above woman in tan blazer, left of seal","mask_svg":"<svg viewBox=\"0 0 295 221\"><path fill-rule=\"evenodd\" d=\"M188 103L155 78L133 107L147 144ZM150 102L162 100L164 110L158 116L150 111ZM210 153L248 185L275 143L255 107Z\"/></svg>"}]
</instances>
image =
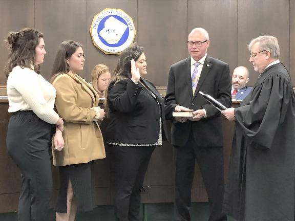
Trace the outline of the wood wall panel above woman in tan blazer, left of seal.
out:
<instances>
[{"instance_id":1,"label":"wood wall panel above woman in tan blazer, left of seal","mask_svg":"<svg viewBox=\"0 0 295 221\"><path fill-rule=\"evenodd\" d=\"M62 41L74 40L87 51L86 0L35 0L35 29L44 34L47 55L41 64L41 73L50 79L57 48ZM87 78L87 65L78 74Z\"/></svg>"}]
</instances>

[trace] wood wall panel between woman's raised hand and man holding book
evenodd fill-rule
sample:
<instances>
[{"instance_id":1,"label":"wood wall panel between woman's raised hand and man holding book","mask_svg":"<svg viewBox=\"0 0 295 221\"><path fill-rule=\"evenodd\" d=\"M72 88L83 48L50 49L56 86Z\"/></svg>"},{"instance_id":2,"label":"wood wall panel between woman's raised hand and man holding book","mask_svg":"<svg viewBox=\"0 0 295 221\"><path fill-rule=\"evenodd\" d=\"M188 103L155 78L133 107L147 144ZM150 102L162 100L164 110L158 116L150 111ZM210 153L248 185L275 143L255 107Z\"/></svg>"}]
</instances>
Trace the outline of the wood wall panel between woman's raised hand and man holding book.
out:
<instances>
[{"instance_id":1,"label":"wood wall panel between woman's raised hand and man holding book","mask_svg":"<svg viewBox=\"0 0 295 221\"><path fill-rule=\"evenodd\" d=\"M186 1L138 0L138 43L156 86L166 86L170 66L186 57L186 17Z\"/></svg>"}]
</instances>

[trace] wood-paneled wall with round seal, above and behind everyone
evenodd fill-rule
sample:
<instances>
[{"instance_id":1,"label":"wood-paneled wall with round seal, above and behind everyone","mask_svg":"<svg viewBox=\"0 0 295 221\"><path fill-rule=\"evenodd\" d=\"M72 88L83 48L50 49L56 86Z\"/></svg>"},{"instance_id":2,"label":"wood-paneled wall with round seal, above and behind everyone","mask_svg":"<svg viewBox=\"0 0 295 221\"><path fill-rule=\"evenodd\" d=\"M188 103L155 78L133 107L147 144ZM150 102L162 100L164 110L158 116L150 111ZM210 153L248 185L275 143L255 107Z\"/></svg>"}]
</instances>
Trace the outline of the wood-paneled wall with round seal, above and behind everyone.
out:
<instances>
[{"instance_id":1,"label":"wood-paneled wall with round seal, above and behind everyone","mask_svg":"<svg viewBox=\"0 0 295 221\"><path fill-rule=\"evenodd\" d=\"M134 20L135 41L145 48L147 78L156 86L166 86L171 64L188 56L187 34L195 27L209 32L210 56L250 71L249 85L258 76L249 63L247 43L259 35L274 35L281 47L280 60L295 78L295 2L292 0L1 0L0 1L0 84L7 61L3 39L9 31L32 27L45 35L47 55L42 65L49 79L57 47L61 41L75 40L84 46L85 70L80 75L90 81L98 63L114 70L118 55L97 49L89 33L95 14L104 8L120 8Z\"/></svg>"}]
</instances>

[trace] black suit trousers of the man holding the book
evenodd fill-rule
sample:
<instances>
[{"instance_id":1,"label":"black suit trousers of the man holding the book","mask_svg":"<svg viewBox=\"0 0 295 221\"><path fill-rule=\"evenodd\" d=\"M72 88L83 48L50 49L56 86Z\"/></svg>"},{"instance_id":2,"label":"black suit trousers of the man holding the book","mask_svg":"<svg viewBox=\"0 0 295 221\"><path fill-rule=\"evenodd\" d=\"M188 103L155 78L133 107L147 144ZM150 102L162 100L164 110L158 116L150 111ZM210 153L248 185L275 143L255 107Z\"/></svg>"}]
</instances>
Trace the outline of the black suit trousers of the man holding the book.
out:
<instances>
[{"instance_id":1,"label":"black suit trousers of the man holding the book","mask_svg":"<svg viewBox=\"0 0 295 221\"><path fill-rule=\"evenodd\" d=\"M226 215L221 213L224 194L223 148L200 147L191 134L185 146L175 146L175 153L175 220L191 220L189 210L196 160L208 195L209 221L227 220Z\"/></svg>"}]
</instances>

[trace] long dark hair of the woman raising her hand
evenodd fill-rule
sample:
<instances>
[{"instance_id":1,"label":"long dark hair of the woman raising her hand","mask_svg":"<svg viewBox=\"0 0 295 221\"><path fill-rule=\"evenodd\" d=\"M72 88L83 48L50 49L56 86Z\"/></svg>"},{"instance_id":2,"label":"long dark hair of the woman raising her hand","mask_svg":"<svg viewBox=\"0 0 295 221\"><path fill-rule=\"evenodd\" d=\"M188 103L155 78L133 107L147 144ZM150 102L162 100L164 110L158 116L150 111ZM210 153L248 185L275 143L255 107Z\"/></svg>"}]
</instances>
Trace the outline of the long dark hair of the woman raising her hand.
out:
<instances>
[{"instance_id":1,"label":"long dark hair of the woman raising her hand","mask_svg":"<svg viewBox=\"0 0 295 221\"><path fill-rule=\"evenodd\" d=\"M143 53L143 47L139 46L137 42L133 43L127 49L122 51L119 56L116 69L114 71L114 77L110 80L108 90L106 90L106 100L104 100L104 112L106 112L107 117L109 116L109 106L108 106L108 92L111 87L114 87L117 82L123 79L130 79L131 76L131 59L137 61L140 55Z\"/></svg>"}]
</instances>

